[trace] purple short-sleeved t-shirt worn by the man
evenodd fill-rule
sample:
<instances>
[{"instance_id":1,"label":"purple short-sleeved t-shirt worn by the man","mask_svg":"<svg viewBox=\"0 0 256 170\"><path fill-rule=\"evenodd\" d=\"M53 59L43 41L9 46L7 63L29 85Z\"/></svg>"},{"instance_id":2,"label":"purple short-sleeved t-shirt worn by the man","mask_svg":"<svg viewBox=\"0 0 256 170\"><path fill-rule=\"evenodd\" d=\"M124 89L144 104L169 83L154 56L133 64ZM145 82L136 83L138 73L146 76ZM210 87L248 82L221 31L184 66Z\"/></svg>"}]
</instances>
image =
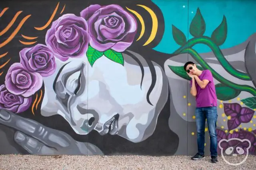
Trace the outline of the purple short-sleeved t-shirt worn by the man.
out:
<instances>
[{"instance_id":1,"label":"purple short-sleeved t-shirt worn by the man","mask_svg":"<svg viewBox=\"0 0 256 170\"><path fill-rule=\"evenodd\" d=\"M203 70L202 74L198 76L198 78L202 80L209 80L207 86L202 89L200 86L196 84L196 107L210 107L217 106L217 96L214 85L214 80L212 77L212 73L210 70ZM192 80L190 80L190 87L192 87Z\"/></svg>"}]
</instances>

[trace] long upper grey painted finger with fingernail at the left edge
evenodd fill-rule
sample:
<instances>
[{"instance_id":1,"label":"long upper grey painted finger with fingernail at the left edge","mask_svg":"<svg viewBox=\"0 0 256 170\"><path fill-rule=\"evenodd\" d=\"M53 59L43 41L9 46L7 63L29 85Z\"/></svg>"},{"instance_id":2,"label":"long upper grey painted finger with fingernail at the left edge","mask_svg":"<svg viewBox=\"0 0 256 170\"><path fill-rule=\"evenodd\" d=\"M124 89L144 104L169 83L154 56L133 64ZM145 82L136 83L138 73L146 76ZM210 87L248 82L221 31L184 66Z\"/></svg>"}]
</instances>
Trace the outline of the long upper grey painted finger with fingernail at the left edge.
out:
<instances>
[{"instance_id":1,"label":"long upper grey painted finger with fingernail at the left edge","mask_svg":"<svg viewBox=\"0 0 256 170\"><path fill-rule=\"evenodd\" d=\"M58 148L68 147L74 141L68 134L48 128L34 120L20 117L11 111L0 110L0 123L12 127L22 133L44 143L44 145Z\"/></svg>"}]
</instances>

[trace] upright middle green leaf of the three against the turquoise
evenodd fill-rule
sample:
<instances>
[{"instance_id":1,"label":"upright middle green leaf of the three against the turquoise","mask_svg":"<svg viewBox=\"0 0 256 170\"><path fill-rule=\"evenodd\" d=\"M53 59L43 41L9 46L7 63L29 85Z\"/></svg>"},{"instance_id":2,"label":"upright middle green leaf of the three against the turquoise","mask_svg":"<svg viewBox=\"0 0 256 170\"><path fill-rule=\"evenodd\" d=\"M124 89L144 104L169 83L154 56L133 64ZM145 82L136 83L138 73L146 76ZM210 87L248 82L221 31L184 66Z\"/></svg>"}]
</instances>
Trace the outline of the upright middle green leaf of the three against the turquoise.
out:
<instances>
[{"instance_id":1,"label":"upright middle green leaf of the three against the turquoise","mask_svg":"<svg viewBox=\"0 0 256 170\"><path fill-rule=\"evenodd\" d=\"M196 15L194 16L193 20L190 23L189 32L194 37L201 37L204 35L206 29L204 18L199 10L197 8Z\"/></svg>"}]
</instances>

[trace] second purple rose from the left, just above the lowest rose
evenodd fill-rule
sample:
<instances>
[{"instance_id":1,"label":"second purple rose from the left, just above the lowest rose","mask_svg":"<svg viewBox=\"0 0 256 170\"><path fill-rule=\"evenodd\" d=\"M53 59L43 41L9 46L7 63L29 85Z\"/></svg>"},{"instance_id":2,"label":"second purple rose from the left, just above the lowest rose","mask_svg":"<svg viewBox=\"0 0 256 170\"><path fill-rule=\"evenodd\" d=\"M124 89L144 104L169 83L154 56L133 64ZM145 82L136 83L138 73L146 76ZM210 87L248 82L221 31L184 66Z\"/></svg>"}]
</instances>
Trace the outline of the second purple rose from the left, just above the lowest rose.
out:
<instances>
[{"instance_id":1,"label":"second purple rose from the left, just above the lowest rose","mask_svg":"<svg viewBox=\"0 0 256 170\"><path fill-rule=\"evenodd\" d=\"M29 72L20 63L12 64L5 77L6 89L25 98L32 96L42 84L43 79L38 72Z\"/></svg>"}]
</instances>

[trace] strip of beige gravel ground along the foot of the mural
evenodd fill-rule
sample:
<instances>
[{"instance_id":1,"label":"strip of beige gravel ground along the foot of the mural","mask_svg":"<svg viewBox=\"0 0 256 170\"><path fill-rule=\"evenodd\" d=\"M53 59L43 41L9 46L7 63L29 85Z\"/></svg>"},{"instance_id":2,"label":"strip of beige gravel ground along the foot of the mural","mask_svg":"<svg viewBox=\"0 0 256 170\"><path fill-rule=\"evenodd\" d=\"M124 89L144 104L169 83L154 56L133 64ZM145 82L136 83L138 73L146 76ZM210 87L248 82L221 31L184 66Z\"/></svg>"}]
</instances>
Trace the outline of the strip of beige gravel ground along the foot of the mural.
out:
<instances>
[{"instance_id":1,"label":"strip of beige gravel ground along the foot of the mural","mask_svg":"<svg viewBox=\"0 0 256 170\"><path fill-rule=\"evenodd\" d=\"M229 156L234 163L245 156ZM256 169L256 157L248 156L238 166L227 164L221 156L219 162L210 163L210 157L191 160L190 156L35 156L0 155L1 170L149 170L149 169Z\"/></svg>"}]
</instances>

